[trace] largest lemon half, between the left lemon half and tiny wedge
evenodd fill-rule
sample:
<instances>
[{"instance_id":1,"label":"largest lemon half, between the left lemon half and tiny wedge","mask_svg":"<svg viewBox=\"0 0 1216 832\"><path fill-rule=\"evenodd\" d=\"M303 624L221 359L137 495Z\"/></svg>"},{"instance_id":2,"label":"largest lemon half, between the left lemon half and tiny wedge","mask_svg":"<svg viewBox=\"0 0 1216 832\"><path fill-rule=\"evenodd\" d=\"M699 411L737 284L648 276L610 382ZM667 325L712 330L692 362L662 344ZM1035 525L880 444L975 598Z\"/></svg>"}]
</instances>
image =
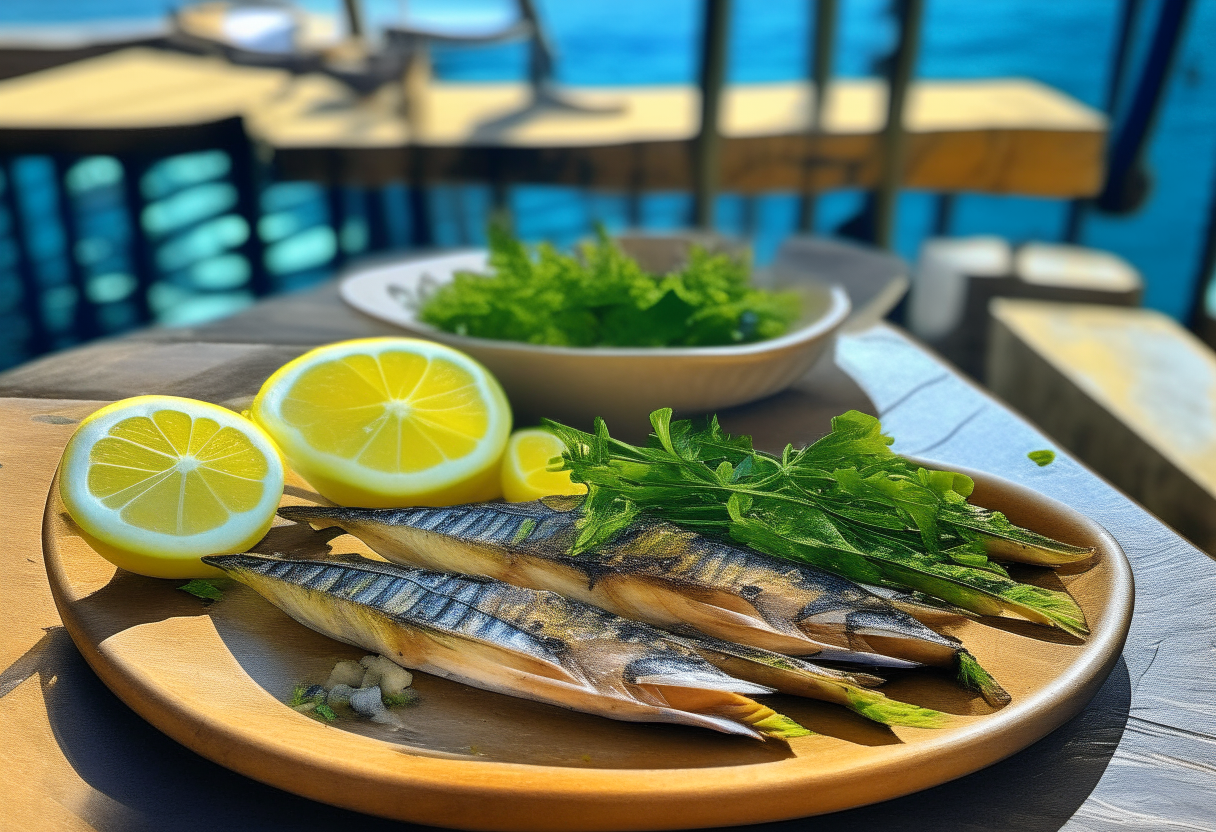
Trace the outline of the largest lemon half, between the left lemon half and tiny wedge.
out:
<instances>
[{"instance_id":1,"label":"largest lemon half, between the left lemon half and tiny wedge","mask_svg":"<svg viewBox=\"0 0 1216 832\"><path fill-rule=\"evenodd\" d=\"M468 355L413 338L305 353L252 416L317 491L344 506L446 506L499 496L511 407Z\"/></svg>"}]
</instances>

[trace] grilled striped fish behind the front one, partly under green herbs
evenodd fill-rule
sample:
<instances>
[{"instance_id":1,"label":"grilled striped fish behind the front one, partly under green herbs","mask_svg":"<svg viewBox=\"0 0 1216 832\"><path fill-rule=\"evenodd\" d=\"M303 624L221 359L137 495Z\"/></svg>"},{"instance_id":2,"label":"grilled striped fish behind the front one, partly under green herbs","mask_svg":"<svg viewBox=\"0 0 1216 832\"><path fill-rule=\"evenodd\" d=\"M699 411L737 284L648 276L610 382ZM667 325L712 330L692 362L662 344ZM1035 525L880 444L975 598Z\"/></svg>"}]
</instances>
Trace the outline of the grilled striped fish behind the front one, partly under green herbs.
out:
<instances>
[{"instance_id":1,"label":"grilled striped fish behind the front one, partly under green herbs","mask_svg":"<svg viewBox=\"0 0 1216 832\"><path fill-rule=\"evenodd\" d=\"M857 584L807 564L640 522L572 557L578 511L545 502L443 508L285 506L402 564L545 589L677 634L877 667L950 667L961 643Z\"/></svg>"}]
</instances>

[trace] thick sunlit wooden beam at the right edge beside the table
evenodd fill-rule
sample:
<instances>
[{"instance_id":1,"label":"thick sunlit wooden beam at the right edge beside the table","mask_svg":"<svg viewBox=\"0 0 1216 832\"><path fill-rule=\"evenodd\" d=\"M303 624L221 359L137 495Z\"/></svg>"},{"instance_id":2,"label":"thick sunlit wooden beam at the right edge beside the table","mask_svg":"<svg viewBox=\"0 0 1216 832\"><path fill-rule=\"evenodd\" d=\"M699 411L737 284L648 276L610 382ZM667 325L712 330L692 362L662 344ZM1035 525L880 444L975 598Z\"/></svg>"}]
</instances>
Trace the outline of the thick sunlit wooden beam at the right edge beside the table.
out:
<instances>
[{"instance_id":1,"label":"thick sunlit wooden beam at the right edge beside the table","mask_svg":"<svg viewBox=\"0 0 1216 832\"><path fill-rule=\"evenodd\" d=\"M1000 299L987 383L1216 555L1216 355L1149 309Z\"/></svg>"}]
</instances>

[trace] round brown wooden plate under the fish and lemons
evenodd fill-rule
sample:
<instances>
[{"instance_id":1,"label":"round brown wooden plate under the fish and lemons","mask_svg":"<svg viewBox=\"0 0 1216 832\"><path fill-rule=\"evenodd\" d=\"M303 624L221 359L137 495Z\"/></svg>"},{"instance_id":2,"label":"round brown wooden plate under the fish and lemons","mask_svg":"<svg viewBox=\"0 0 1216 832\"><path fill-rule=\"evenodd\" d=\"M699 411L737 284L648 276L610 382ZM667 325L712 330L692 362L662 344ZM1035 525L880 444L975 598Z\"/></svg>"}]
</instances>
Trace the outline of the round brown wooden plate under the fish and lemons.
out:
<instances>
[{"instance_id":1,"label":"round brown wooden plate under the fish and lemons","mask_svg":"<svg viewBox=\"0 0 1216 832\"><path fill-rule=\"evenodd\" d=\"M942 730L894 729L793 697L773 707L817 732L786 746L700 729L618 723L416 675L407 730L325 725L283 702L320 682L347 647L236 586L206 605L184 581L118 570L73 532L51 485L43 546L64 625L97 675L140 715L235 771L316 800L468 830L669 830L834 811L907 794L1025 748L1076 714L1107 678L1132 613L1132 574L1115 540L1063 504L985 474L975 501L1015 523L1098 547L1063 581L1088 618L1085 643L1034 625L964 622L962 637L1013 702L992 712L936 671L886 692L957 714ZM285 502L316 495L295 480ZM316 545L283 525L265 547ZM334 551L366 550L350 536ZM1029 574L1029 573L1028 573ZM1026 579L1026 577L1023 577ZM1055 584L1058 586L1058 583Z\"/></svg>"}]
</instances>

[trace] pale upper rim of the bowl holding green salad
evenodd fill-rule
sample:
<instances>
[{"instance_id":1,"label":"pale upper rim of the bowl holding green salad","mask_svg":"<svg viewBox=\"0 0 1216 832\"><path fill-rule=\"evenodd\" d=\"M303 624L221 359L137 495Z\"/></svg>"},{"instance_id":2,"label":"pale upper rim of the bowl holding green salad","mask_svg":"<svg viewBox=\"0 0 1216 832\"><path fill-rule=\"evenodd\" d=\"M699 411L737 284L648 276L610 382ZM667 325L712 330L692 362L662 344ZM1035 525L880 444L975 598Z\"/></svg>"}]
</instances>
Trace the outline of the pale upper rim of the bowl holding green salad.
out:
<instances>
[{"instance_id":1,"label":"pale upper rim of the bowl holding green salad","mask_svg":"<svg viewBox=\"0 0 1216 832\"><path fill-rule=\"evenodd\" d=\"M465 248L437 257L401 260L390 264L360 269L342 277L338 292L342 299L350 307L365 315L371 315L381 321L398 326L406 332L421 335L434 341L454 347L468 347L480 350L500 350L505 353L534 353L542 355L597 355L612 358L716 358L716 356L744 356L758 355L770 352L782 352L793 347L799 347L807 342L831 335L849 317L852 304L849 294L838 283L807 283L827 294L828 303L822 314L806 321L783 336L766 338L745 344L719 344L715 347L557 347L552 344L529 344L523 341L506 341L499 338L478 338L474 336L462 336L430 326L411 317L410 322L402 322L398 316L385 314L382 308L373 307L364 302L360 293L353 287L383 286L392 275L402 268L422 268L424 264L438 265L444 260L465 259L474 254L488 254L484 248ZM409 314L409 310L406 310Z\"/></svg>"}]
</instances>

